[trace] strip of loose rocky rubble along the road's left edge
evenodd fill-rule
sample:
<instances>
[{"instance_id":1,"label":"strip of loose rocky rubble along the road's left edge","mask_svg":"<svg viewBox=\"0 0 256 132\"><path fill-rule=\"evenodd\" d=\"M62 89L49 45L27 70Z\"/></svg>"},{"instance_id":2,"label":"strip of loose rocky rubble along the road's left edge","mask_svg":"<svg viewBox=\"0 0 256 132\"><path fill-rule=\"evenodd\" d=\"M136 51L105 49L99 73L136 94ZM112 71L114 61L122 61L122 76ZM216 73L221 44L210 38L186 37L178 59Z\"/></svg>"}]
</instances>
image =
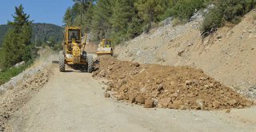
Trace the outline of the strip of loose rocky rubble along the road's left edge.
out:
<instances>
[{"instance_id":1,"label":"strip of loose rocky rubble along the road's left edge","mask_svg":"<svg viewBox=\"0 0 256 132\"><path fill-rule=\"evenodd\" d=\"M48 82L50 70L46 64L31 67L0 86L0 131L5 122Z\"/></svg>"}]
</instances>

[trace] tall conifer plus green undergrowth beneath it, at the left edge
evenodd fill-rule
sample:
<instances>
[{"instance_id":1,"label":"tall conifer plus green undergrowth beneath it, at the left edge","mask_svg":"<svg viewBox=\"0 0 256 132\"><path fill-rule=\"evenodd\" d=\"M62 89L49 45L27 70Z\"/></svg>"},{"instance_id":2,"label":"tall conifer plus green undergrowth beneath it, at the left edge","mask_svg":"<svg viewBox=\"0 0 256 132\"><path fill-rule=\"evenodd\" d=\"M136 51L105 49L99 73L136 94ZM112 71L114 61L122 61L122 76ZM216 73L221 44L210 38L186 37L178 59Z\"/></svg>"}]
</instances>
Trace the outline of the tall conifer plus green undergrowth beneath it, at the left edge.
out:
<instances>
[{"instance_id":1,"label":"tall conifer plus green undergrowth beneath it, at the left edge","mask_svg":"<svg viewBox=\"0 0 256 132\"><path fill-rule=\"evenodd\" d=\"M30 15L24 13L22 5L15 7L14 22L8 22L2 48L0 49L0 85L7 82L26 69L33 62L35 49L31 43L32 26ZM14 66L18 62L26 62L22 66Z\"/></svg>"}]
</instances>

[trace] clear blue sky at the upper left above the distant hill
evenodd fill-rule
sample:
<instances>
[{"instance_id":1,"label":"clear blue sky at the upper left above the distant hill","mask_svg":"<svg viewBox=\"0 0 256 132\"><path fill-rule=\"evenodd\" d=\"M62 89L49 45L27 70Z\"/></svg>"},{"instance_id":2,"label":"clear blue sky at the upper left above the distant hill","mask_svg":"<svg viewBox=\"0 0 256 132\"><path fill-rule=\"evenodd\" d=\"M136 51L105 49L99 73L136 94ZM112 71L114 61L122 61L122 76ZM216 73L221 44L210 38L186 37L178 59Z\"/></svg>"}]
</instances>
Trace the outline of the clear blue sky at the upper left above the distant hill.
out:
<instances>
[{"instance_id":1,"label":"clear blue sky at the upper left above the distant hill","mask_svg":"<svg viewBox=\"0 0 256 132\"><path fill-rule=\"evenodd\" d=\"M0 0L0 25L13 21L14 6L22 4L30 20L62 26L66 8L73 5L72 0Z\"/></svg>"}]
</instances>

